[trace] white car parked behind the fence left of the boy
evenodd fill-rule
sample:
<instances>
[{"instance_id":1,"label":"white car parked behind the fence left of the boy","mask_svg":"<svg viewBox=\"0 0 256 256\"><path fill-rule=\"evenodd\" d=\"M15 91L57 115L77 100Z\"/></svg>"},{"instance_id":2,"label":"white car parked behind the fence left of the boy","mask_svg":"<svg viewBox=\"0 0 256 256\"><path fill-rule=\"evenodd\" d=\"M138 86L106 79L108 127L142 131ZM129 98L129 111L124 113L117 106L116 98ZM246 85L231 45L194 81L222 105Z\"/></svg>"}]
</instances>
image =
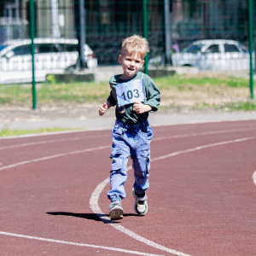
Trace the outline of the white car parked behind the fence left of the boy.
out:
<instances>
[{"instance_id":1,"label":"white car parked behind the fence left of the boy","mask_svg":"<svg viewBox=\"0 0 256 256\"><path fill-rule=\"evenodd\" d=\"M35 38L35 77L45 80L50 73L64 73L78 60L78 40L67 38ZM92 49L84 44L84 59L88 68L97 67ZM0 84L32 81L31 40L6 41L0 45Z\"/></svg>"}]
</instances>

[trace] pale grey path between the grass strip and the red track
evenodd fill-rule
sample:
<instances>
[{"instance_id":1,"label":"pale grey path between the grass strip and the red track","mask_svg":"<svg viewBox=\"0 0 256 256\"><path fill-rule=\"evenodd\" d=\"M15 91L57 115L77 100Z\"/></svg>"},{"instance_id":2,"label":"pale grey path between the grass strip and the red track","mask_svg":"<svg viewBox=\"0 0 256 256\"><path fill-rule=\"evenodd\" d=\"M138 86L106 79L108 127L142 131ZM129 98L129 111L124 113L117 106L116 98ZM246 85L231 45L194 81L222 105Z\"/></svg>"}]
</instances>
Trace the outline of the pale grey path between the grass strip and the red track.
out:
<instances>
[{"instance_id":1,"label":"pale grey path between the grass strip and the red track","mask_svg":"<svg viewBox=\"0 0 256 256\"><path fill-rule=\"evenodd\" d=\"M162 110L150 113L149 123L155 125L177 125L189 123L234 121L256 119L252 112L215 112ZM44 111L0 109L0 129L36 130L40 128L77 128L84 130L111 129L114 124L113 108L103 117L97 108L52 109Z\"/></svg>"}]
</instances>

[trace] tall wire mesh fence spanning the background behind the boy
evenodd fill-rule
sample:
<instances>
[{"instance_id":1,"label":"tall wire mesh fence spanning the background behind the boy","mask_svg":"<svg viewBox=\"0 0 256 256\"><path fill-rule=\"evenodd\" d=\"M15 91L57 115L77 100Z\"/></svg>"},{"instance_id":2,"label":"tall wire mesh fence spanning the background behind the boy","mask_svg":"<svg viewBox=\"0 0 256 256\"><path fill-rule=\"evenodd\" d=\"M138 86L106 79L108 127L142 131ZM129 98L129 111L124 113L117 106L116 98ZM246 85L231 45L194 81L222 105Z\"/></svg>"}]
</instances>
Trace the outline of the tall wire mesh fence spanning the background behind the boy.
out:
<instances>
[{"instance_id":1,"label":"tall wire mesh fence spanning the background behind the boy","mask_svg":"<svg viewBox=\"0 0 256 256\"><path fill-rule=\"evenodd\" d=\"M253 14L255 2L252 0ZM122 40L133 34L148 37L149 75L153 79L169 76L164 82L156 79L164 105L246 102L253 96L249 78L255 59L248 3L250 0L3 0L0 107L32 107L32 22L38 108L104 101L109 77L122 72L118 62ZM251 25L254 15L253 19ZM213 79L219 80L213 83Z\"/></svg>"}]
</instances>

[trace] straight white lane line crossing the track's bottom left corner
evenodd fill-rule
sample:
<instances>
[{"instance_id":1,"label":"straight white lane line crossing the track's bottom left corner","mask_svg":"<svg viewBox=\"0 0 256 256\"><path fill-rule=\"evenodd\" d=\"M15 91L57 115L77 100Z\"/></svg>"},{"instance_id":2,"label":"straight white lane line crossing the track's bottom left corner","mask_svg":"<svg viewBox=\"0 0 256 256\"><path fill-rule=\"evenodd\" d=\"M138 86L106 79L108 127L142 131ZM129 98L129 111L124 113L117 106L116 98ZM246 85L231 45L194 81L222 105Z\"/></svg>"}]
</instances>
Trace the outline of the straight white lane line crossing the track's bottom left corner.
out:
<instances>
[{"instance_id":1,"label":"straight white lane line crossing the track's bottom left corner","mask_svg":"<svg viewBox=\"0 0 256 256\"><path fill-rule=\"evenodd\" d=\"M0 235L15 236L15 237L38 240L38 241L49 241L49 242L61 243L61 244L72 245L72 246L77 246L77 247L92 247L92 248L96 248L96 249L103 249L103 250L109 250L109 251L120 252L120 253L130 253L130 254L144 255L144 256L158 256L158 254L142 253L142 252L137 252L137 251L116 248L116 247L102 247L102 246L97 246L97 245L87 244L87 243L79 243L79 242L73 242L73 241L61 241L61 240L49 239L49 238L38 237L38 236L25 236L25 235L1 232L1 231L0 231Z\"/></svg>"}]
</instances>

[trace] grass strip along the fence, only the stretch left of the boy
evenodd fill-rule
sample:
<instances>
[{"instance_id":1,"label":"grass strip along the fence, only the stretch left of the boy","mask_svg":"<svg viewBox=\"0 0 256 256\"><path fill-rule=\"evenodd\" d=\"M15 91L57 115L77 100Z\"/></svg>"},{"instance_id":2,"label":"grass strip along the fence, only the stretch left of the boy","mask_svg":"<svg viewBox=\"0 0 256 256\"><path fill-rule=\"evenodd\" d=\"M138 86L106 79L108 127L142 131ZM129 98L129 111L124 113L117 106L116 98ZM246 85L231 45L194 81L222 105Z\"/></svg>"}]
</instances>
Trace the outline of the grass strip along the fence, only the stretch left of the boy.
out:
<instances>
[{"instance_id":1,"label":"grass strip along the fence, only the stretch left of the boy","mask_svg":"<svg viewBox=\"0 0 256 256\"><path fill-rule=\"evenodd\" d=\"M108 83L37 84L39 106L60 107L103 102L109 94ZM32 104L31 86L0 85L0 106L29 107Z\"/></svg>"}]
</instances>

